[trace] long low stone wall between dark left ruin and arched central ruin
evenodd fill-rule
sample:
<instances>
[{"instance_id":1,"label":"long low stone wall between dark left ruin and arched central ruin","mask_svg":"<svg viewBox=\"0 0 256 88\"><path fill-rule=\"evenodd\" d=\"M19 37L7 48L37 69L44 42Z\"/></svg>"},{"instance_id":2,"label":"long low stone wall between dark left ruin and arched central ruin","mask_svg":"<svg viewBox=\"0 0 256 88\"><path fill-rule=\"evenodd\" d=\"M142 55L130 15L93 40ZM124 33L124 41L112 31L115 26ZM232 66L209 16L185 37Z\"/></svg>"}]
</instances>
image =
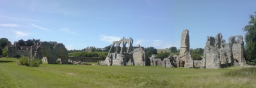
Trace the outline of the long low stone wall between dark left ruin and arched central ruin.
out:
<instances>
[{"instance_id":1,"label":"long low stone wall between dark left ruin and arched central ruin","mask_svg":"<svg viewBox=\"0 0 256 88\"><path fill-rule=\"evenodd\" d=\"M97 62L97 61L103 61L104 59L102 57L68 57L69 61L76 61L76 62Z\"/></svg>"}]
</instances>

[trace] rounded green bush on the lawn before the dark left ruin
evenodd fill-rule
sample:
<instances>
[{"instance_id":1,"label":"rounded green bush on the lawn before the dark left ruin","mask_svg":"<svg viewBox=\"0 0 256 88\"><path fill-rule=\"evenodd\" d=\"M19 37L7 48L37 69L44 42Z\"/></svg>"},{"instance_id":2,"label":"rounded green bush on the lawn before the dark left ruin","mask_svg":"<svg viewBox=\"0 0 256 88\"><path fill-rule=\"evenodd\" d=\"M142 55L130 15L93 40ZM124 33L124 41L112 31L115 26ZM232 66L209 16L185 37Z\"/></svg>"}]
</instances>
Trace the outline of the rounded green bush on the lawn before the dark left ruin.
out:
<instances>
[{"instance_id":1,"label":"rounded green bush on the lawn before the dark left ruin","mask_svg":"<svg viewBox=\"0 0 256 88\"><path fill-rule=\"evenodd\" d=\"M29 61L28 57L20 57L19 62L21 65L24 65L24 66L38 67L40 66L41 60L32 59L31 61Z\"/></svg>"}]
</instances>

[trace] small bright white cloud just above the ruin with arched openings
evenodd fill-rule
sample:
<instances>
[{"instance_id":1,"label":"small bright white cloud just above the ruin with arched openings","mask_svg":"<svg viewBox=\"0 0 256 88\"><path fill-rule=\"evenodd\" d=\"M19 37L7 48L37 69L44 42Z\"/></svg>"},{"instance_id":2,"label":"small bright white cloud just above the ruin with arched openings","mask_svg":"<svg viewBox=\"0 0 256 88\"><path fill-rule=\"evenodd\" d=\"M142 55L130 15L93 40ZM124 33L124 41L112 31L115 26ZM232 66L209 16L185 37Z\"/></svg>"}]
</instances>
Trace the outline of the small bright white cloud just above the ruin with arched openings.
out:
<instances>
[{"instance_id":1,"label":"small bright white cloud just above the ruin with arched openings","mask_svg":"<svg viewBox=\"0 0 256 88\"><path fill-rule=\"evenodd\" d=\"M109 43L112 43L113 41L121 40L121 37L118 36L106 36L106 35L100 35L101 41L107 41Z\"/></svg>"}]
</instances>

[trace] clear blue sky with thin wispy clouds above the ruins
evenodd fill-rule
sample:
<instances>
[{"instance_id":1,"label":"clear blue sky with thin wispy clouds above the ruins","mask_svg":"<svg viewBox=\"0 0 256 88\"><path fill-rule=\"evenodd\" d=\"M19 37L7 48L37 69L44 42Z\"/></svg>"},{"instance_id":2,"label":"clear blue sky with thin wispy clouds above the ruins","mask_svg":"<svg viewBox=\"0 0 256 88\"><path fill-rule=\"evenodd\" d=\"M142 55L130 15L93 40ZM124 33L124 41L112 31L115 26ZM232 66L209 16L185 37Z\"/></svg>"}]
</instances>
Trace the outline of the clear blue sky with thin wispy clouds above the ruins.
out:
<instances>
[{"instance_id":1,"label":"clear blue sky with thin wispy clouds above the ruins","mask_svg":"<svg viewBox=\"0 0 256 88\"><path fill-rule=\"evenodd\" d=\"M103 48L131 37L133 46L204 48L207 36L242 35L256 1L0 0L0 38L57 41L70 49Z\"/></svg>"}]
</instances>

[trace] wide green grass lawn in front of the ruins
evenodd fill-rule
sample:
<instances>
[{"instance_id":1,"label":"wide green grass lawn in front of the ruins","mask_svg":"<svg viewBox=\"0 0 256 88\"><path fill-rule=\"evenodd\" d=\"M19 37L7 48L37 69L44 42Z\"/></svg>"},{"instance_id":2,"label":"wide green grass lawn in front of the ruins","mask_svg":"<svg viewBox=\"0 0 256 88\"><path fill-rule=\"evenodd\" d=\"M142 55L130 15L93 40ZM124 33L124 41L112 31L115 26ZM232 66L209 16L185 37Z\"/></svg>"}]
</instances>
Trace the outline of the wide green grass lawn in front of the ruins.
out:
<instances>
[{"instance_id":1,"label":"wide green grass lawn in front of the ruins","mask_svg":"<svg viewBox=\"0 0 256 88\"><path fill-rule=\"evenodd\" d=\"M225 77L225 69L163 68L162 66L97 66L41 64L19 66L0 58L0 87L256 87L254 78Z\"/></svg>"}]
</instances>

